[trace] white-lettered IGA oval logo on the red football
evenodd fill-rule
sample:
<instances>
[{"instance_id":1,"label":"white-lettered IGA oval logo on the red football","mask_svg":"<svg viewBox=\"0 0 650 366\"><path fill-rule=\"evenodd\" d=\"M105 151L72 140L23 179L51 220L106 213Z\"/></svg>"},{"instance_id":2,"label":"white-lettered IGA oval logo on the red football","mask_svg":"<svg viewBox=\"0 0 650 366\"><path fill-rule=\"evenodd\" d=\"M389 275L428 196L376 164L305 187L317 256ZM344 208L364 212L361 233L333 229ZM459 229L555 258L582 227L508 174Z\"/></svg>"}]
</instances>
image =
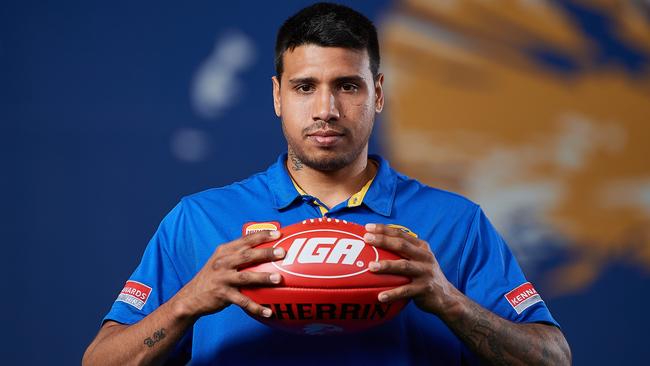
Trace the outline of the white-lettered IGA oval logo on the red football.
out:
<instances>
[{"instance_id":1,"label":"white-lettered IGA oval logo on the red football","mask_svg":"<svg viewBox=\"0 0 650 366\"><path fill-rule=\"evenodd\" d=\"M307 230L280 239L287 255L273 265L300 277L342 278L368 271L368 263L379 260L379 252L363 238L340 230Z\"/></svg>"}]
</instances>

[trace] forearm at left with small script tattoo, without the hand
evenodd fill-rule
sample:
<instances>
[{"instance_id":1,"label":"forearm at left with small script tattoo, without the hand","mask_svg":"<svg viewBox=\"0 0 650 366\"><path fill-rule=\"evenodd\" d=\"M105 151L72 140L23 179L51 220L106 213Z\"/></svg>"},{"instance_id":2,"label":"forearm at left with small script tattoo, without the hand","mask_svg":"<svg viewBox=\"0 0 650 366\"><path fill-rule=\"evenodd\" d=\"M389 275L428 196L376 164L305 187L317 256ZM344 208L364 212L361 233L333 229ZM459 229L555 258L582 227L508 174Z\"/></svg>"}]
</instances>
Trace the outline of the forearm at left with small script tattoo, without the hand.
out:
<instances>
[{"instance_id":1,"label":"forearm at left with small script tattoo, without the hand","mask_svg":"<svg viewBox=\"0 0 650 366\"><path fill-rule=\"evenodd\" d=\"M172 298L136 324L106 324L83 365L162 364L195 319Z\"/></svg>"}]
</instances>

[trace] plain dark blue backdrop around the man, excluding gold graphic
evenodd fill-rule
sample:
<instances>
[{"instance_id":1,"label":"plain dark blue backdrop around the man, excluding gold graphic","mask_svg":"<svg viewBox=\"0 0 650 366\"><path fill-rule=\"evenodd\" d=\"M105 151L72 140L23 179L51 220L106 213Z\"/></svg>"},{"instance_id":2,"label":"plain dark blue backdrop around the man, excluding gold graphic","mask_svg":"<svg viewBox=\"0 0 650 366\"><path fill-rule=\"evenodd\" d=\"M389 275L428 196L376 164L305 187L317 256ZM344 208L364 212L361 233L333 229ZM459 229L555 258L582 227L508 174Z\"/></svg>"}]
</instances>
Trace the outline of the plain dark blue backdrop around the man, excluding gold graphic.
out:
<instances>
[{"instance_id":1,"label":"plain dark blue backdrop around the man, excluding gold graphic","mask_svg":"<svg viewBox=\"0 0 650 366\"><path fill-rule=\"evenodd\" d=\"M180 197L243 179L285 149L273 44L308 3L3 3L0 362L78 364ZM373 19L389 10L354 6ZM220 57L228 50L239 63ZM546 299L576 364L650 356L649 283L647 271L612 264L583 292Z\"/></svg>"}]
</instances>

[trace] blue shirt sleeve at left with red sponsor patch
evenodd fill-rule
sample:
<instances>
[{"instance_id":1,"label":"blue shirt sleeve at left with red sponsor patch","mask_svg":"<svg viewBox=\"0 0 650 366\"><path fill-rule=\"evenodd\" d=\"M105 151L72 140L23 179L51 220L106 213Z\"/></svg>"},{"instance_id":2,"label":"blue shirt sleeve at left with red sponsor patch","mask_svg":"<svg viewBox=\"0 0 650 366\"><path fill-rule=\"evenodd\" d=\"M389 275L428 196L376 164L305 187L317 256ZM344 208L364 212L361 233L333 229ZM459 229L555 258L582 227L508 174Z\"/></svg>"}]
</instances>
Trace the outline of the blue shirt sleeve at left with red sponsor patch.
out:
<instances>
[{"instance_id":1,"label":"blue shirt sleeve at left with red sponsor patch","mask_svg":"<svg viewBox=\"0 0 650 366\"><path fill-rule=\"evenodd\" d=\"M119 293L103 322L134 324L156 310L183 287L187 279L180 261L187 261L188 233L181 201L163 219L142 260ZM179 270L180 269L180 270Z\"/></svg>"}]
</instances>

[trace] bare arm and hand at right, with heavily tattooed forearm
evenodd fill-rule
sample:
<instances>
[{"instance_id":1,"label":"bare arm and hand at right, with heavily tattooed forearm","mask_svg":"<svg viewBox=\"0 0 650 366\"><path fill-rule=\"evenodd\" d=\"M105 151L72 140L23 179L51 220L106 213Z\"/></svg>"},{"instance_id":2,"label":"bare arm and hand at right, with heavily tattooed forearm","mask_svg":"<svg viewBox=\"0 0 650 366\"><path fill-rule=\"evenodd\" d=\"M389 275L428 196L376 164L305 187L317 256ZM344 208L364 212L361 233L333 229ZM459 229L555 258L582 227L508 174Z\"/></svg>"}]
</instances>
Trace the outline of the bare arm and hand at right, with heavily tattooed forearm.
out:
<instances>
[{"instance_id":1,"label":"bare arm and hand at right, with heavily tattooed forearm","mask_svg":"<svg viewBox=\"0 0 650 366\"><path fill-rule=\"evenodd\" d=\"M380 293L379 301L412 298L420 309L440 317L470 350L490 364L571 364L569 345L559 329L513 323L482 308L447 280L426 242L384 225L369 224L366 230L366 242L405 258L373 262L370 270L412 280Z\"/></svg>"}]
</instances>

